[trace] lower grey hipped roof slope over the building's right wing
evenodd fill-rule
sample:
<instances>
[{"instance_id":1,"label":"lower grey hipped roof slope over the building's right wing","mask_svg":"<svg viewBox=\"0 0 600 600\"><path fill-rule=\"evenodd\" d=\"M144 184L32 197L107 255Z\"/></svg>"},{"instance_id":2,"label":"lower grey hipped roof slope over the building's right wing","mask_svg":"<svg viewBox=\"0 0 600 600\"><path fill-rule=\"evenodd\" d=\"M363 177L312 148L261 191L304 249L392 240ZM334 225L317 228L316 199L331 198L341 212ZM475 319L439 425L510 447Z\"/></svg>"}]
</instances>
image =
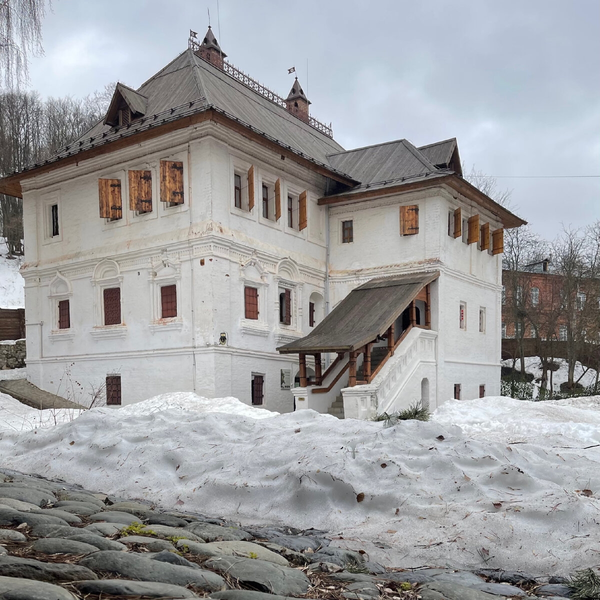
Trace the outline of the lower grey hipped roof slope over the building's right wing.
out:
<instances>
[{"instance_id":1,"label":"lower grey hipped roof slope over the building's right wing","mask_svg":"<svg viewBox=\"0 0 600 600\"><path fill-rule=\"evenodd\" d=\"M362 184L436 170L434 164L407 140L337 152L330 154L328 159L332 167L349 173Z\"/></svg>"}]
</instances>

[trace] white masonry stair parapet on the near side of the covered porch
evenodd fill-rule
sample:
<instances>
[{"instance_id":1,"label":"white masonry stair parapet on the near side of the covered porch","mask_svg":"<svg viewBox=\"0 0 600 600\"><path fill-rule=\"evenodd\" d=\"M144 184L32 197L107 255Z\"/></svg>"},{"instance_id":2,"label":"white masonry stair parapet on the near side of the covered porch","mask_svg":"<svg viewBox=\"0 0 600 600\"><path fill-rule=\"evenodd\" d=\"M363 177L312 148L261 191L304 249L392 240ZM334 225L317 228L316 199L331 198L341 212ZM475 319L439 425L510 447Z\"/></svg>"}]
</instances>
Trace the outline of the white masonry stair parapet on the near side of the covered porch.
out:
<instances>
[{"instance_id":1,"label":"white masonry stair parapet on the near side of the covered porch","mask_svg":"<svg viewBox=\"0 0 600 600\"><path fill-rule=\"evenodd\" d=\"M437 331L413 327L371 383L341 390L344 418L370 419L377 413L394 412L419 365L436 364L436 339Z\"/></svg>"}]
</instances>

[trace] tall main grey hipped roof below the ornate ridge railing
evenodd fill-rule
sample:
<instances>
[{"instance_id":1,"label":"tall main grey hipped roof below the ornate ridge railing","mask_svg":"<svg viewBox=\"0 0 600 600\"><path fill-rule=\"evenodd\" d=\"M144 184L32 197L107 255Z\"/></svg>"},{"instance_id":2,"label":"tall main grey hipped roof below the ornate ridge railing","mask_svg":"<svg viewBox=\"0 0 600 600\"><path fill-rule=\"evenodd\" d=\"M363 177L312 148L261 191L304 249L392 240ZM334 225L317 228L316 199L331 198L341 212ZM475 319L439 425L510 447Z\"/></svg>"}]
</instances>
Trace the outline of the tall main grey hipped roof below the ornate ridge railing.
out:
<instances>
[{"instance_id":1,"label":"tall main grey hipped roof below the ornate ridge railing","mask_svg":"<svg viewBox=\"0 0 600 600\"><path fill-rule=\"evenodd\" d=\"M337 170L327 160L328 154L343 150L335 140L197 57L190 49L182 52L134 93L147 98L145 116L141 119L123 127L112 127L99 121L75 142L23 171L55 163L61 158L208 109L235 119L327 169ZM351 179L346 173L337 172Z\"/></svg>"}]
</instances>

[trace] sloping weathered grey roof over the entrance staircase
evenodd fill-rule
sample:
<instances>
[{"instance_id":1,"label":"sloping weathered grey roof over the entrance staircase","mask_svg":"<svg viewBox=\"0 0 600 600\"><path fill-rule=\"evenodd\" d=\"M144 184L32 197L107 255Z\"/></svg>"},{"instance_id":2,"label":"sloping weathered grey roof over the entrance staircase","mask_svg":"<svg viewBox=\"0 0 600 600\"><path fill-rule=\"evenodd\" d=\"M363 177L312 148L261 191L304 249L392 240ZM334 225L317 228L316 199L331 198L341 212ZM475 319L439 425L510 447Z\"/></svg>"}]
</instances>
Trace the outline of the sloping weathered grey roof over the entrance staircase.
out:
<instances>
[{"instance_id":1,"label":"sloping weathered grey roof over the entrance staircase","mask_svg":"<svg viewBox=\"0 0 600 600\"><path fill-rule=\"evenodd\" d=\"M420 271L371 279L352 290L310 334L277 350L282 354L357 350L385 332L439 274Z\"/></svg>"}]
</instances>

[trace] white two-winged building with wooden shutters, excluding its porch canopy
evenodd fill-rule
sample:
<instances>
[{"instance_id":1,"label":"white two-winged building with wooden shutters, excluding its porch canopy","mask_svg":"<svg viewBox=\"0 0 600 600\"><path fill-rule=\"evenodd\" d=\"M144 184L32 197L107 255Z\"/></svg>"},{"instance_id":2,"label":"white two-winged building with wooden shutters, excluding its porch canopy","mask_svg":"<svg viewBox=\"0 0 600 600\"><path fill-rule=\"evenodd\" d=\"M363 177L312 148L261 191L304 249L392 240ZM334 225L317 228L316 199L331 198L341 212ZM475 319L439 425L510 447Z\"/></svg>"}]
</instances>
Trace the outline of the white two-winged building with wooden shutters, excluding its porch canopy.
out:
<instances>
[{"instance_id":1,"label":"white two-winged building with wooden shutters, excluding its porch canopy","mask_svg":"<svg viewBox=\"0 0 600 600\"><path fill-rule=\"evenodd\" d=\"M64 395L67 371L113 404L195 391L281 412L341 395L346 416L497 394L502 230L523 221L462 178L454 139L344 151L298 80L283 100L224 56L209 29L137 91L119 84L80 140L0 179L23 198L31 382ZM400 275L418 292L327 373L337 352L321 376L306 352L306 382L283 347ZM406 331L374 373L390 319L394 344Z\"/></svg>"}]
</instances>

